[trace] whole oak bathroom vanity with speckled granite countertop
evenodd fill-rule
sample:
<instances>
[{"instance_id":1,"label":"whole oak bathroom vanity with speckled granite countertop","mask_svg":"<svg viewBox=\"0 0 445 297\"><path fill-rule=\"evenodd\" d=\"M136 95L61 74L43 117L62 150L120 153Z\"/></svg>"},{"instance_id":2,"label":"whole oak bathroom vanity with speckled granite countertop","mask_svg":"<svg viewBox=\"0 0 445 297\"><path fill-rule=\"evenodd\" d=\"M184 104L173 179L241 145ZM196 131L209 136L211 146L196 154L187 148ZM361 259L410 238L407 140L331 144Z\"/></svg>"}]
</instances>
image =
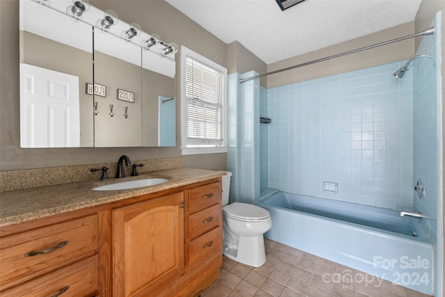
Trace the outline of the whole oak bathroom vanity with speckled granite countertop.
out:
<instances>
[{"instance_id":1,"label":"whole oak bathroom vanity with speckled granite countertop","mask_svg":"<svg viewBox=\"0 0 445 297\"><path fill-rule=\"evenodd\" d=\"M222 264L224 173L152 173L168 182L92 191L104 182L90 181L1 193L0 295L202 293Z\"/></svg>"}]
</instances>

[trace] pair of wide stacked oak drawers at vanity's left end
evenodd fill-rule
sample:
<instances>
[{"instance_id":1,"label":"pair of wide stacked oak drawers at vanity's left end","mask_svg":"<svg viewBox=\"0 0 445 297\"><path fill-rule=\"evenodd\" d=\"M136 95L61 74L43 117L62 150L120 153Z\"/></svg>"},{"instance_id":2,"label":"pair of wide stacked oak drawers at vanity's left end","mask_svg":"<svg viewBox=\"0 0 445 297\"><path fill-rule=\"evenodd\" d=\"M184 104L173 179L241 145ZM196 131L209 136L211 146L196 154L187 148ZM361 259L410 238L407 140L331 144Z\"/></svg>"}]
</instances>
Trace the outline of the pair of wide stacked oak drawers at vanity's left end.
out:
<instances>
[{"instance_id":1,"label":"pair of wide stacked oak drawers at vanity's left end","mask_svg":"<svg viewBox=\"0 0 445 297\"><path fill-rule=\"evenodd\" d=\"M0 239L0 295L94 296L98 287L97 215Z\"/></svg>"}]
</instances>

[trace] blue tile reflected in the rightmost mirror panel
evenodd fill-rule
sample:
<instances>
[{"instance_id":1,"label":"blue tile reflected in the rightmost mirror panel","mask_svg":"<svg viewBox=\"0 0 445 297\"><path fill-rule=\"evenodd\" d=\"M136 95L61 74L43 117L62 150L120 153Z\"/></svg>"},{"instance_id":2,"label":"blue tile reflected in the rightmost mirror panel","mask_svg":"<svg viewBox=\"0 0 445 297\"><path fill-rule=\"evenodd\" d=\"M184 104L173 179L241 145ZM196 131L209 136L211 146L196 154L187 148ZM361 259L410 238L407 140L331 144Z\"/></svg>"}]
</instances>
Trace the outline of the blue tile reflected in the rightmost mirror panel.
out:
<instances>
[{"instance_id":1,"label":"blue tile reflected in the rightmost mirror panel","mask_svg":"<svg viewBox=\"0 0 445 297\"><path fill-rule=\"evenodd\" d=\"M176 99L159 96L158 141L159 146L176 145Z\"/></svg>"}]
</instances>

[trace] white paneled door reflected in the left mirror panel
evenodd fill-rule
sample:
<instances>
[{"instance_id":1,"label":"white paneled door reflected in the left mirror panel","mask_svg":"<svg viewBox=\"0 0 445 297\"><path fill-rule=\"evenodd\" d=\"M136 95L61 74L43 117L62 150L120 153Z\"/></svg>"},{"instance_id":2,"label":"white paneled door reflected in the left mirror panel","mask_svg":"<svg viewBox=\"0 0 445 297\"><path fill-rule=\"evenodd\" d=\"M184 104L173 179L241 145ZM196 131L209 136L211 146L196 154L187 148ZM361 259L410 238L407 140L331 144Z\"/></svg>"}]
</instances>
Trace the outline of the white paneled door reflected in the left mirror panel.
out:
<instances>
[{"instance_id":1,"label":"white paneled door reflected in the left mirror panel","mask_svg":"<svg viewBox=\"0 0 445 297\"><path fill-rule=\"evenodd\" d=\"M20 64L21 147L79 147L79 77Z\"/></svg>"}]
</instances>

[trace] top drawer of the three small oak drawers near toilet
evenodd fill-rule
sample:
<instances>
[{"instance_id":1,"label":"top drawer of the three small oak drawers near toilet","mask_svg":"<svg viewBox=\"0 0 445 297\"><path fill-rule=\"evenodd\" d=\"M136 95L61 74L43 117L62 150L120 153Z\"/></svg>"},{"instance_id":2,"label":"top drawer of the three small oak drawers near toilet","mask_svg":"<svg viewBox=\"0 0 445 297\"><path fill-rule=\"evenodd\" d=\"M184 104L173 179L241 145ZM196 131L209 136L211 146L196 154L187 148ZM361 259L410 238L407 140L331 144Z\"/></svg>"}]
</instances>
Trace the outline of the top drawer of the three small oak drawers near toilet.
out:
<instances>
[{"instance_id":1,"label":"top drawer of the three small oak drawers near toilet","mask_svg":"<svg viewBox=\"0 0 445 297\"><path fill-rule=\"evenodd\" d=\"M198 186L190 190L190 202L188 211L195 211L210 207L221 201L221 184L219 182Z\"/></svg>"}]
</instances>

